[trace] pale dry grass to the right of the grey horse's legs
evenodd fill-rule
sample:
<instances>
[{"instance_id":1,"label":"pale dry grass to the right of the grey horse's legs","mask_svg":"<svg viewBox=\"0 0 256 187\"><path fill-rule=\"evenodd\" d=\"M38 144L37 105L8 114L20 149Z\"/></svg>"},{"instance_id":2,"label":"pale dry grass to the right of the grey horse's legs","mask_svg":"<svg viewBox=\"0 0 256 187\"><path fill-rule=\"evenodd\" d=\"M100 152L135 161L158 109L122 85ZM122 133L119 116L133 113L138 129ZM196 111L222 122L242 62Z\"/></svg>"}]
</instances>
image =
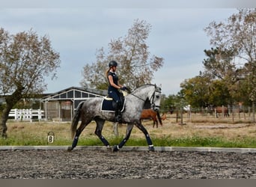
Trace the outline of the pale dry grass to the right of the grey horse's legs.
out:
<instances>
[{"instance_id":1,"label":"pale dry grass to the right of the grey horse's legs","mask_svg":"<svg viewBox=\"0 0 256 187\"><path fill-rule=\"evenodd\" d=\"M233 122L232 117L201 117L192 116L183 118L183 124L178 123L174 115L169 115L164 121L164 125L160 128L161 134L169 135L174 138L200 136L200 137L223 137L223 138L244 138L253 137L256 135L256 126L253 123L239 123L241 119L235 119Z\"/></svg>"}]
</instances>

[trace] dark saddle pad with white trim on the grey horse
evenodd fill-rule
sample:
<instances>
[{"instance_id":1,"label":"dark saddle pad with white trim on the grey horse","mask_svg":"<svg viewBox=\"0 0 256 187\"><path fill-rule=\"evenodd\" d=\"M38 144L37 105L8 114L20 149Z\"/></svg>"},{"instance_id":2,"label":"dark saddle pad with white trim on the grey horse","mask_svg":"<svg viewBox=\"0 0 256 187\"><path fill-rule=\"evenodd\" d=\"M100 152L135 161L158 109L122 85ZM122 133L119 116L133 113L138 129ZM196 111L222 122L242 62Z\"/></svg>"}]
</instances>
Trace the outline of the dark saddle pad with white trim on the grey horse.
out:
<instances>
[{"instance_id":1,"label":"dark saddle pad with white trim on the grey horse","mask_svg":"<svg viewBox=\"0 0 256 187\"><path fill-rule=\"evenodd\" d=\"M121 96L121 112L124 111L124 104L126 102L126 98ZM103 101L101 102L101 111L109 111L109 112L115 112L115 101L112 99L112 97L105 96L103 98Z\"/></svg>"}]
</instances>

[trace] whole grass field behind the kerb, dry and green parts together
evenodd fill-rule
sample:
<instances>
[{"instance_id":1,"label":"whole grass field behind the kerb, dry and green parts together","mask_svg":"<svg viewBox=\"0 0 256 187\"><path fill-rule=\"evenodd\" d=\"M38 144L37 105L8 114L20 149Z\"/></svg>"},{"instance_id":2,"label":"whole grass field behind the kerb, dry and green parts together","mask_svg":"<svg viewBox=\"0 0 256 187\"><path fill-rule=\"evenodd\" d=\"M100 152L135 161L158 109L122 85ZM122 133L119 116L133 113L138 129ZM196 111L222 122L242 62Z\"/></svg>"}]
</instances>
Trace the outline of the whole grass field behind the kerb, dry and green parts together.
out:
<instances>
[{"instance_id":1,"label":"whole grass field behind the kerb, dry and green parts together","mask_svg":"<svg viewBox=\"0 0 256 187\"><path fill-rule=\"evenodd\" d=\"M256 147L256 125L248 121L234 120L231 117L219 119L184 117L183 125L175 116L168 116L163 126L153 128L153 121L143 124L153 140L154 146L189 147ZM94 134L96 124L91 122L79 138L78 145L103 145ZM119 136L113 132L112 123L106 122L103 136L110 144L118 144L124 138L126 125L118 126ZM67 145L72 144L70 122L14 122L7 123L7 139L0 138L0 145ZM48 133L54 133L53 143L48 143ZM144 134L138 128L132 129L127 141L129 146L147 146Z\"/></svg>"}]
</instances>

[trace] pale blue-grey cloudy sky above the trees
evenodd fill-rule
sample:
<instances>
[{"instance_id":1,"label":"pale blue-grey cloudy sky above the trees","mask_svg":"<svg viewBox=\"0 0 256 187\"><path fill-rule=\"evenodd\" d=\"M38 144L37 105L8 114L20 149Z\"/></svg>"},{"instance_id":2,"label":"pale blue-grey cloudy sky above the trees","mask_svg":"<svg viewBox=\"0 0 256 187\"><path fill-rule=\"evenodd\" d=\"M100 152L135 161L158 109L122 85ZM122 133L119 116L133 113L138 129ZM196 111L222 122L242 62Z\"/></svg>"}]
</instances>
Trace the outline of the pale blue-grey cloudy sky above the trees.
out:
<instances>
[{"instance_id":1,"label":"pale blue-grey cloudy sky above the trees","mask_svg":"<svg viewBox=\"0 0 256 187\"><path fill-rule=\"evenodd\" d=\"M163 67L154 73L151 83L161 85L166 96L177 94L181 82L204 70L204 49L212 47L204 28L210 22L227 20L240 6L199 3L186 6L164 0L159 0L158 4L151 0L144 1L145 4L133 0L128 4L115 0L110 4L100 0L78 1L77 4L61 0L39 1L38 4L29 0L21 2L10 0L1 6L0 27L10 34L32 29L39 36L47 35L52 48L60 53L58 79L46 78L45 93L79 87L82 68L96 61L97 49L103 47L107 52L108 43L125 37L135 19L139 19L152 26L147 38L150 55L164 58Z\"/></svg>"}]
</instances>

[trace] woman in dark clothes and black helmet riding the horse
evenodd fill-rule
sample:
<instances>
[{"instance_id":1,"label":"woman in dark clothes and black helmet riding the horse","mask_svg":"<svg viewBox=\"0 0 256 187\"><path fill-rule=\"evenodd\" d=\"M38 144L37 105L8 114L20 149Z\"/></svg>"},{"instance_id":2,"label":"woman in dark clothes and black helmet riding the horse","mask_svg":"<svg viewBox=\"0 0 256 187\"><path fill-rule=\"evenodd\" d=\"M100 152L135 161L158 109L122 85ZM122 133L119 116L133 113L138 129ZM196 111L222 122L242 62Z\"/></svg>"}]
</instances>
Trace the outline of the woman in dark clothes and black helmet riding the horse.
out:
<instances>
[{"instance_id":1,"label":"woman in dark clothes and black helmet riding the horse","mask_svg":"<svg viewBox=\"0 0 256 187\"><path fill-rule=\"evenodd\" d=\"M109 62L109 70L106 71L106 76L109 80L109 96L114 99L115 106L115 121L121 123L121 92L118 89L123 91L127 90L127 88L121 85L118 82L118 76L115 73L118 67L118 63L116 61Z\"/></svg>"}]
</instances>

